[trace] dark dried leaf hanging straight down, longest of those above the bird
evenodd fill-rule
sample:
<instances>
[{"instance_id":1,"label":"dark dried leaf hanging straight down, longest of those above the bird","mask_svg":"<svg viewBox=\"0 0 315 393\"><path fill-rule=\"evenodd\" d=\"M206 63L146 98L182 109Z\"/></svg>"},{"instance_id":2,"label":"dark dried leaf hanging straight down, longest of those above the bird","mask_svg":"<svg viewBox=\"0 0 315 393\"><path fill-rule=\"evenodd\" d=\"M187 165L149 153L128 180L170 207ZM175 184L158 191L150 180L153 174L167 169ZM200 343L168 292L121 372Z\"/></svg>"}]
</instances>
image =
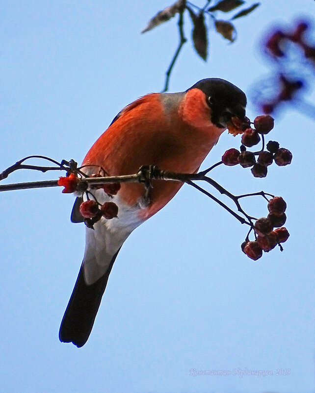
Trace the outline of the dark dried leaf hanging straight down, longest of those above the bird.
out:
<instances>
[{"instance_id":1,"label":"dark dried leaf hanging straight down, longest of those above the bird","mask_svg":"<svg viewBox=\"0 0 315 393\"><path fill-rule=\"evenodd\" d=\"M199 56L206 61L208 57L208 34L204 13L200 12L196 15L192 9L189 7L186 8L194 25L192 29L192 42L194 48Z\"/></svg>"}]
</instances>

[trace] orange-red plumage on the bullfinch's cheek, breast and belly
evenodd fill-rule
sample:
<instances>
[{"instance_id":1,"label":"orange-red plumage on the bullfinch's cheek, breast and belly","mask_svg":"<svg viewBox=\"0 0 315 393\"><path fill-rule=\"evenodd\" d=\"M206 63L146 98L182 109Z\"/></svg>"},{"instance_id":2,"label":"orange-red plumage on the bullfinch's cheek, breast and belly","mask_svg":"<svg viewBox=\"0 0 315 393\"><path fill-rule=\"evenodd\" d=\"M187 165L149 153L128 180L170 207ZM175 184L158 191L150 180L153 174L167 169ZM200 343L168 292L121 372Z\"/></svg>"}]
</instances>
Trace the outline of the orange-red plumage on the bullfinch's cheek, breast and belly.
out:
<instances>
[{"instance_id":1,"label":"orange-red plumage on the bullfinch's cheek, breast and belly","mask_svg":"<svg viewBox=\"0 0 315 393\"><path fill-rule=\"evenodd\" d=\"M142 165L193 173L217 142L224 128L210 123L209 106L199 89L187 92L169 112L160 94L137 99L101 135L84 158L83 165L102 166L111 175L137 172ZM150 205L139 211L147 219L157 213L178 192L182 183L154 181ZM123 184L120 197L134 205L143 186Z\"/></svg>"}]
</instances>

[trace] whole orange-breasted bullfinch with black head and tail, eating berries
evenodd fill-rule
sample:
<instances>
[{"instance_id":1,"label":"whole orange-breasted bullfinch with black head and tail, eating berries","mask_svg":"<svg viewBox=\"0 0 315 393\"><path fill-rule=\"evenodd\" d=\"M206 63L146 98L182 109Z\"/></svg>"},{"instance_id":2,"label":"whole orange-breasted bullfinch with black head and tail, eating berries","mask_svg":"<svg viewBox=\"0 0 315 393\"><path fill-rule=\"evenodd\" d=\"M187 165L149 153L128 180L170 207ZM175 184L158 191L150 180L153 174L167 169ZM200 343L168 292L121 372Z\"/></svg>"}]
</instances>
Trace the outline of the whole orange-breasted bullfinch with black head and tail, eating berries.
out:
<instances>
[{"instance_id":1,"label":"whole orange-breasted bullfinch with black head and tail, eating berries","mask_svg":"<svg viewBox=\"0 0 315 393\"><path fill-rule=\"evenodd\" d=\"M87 152L82 170L92 175L136 173L144 165L196 173L232 117L245 118L246 95L220 78L206 78L180 93L150 93L122 109ZM91 333L117 254L131 232L162 209L180 190L179 181L152 180L144 186L122 183L115 196L92 190L100 203L118 206L118 219L104 217L86 226L83 261L64 313L59 340L83 346ZM77 197L71 221L82 222Z\"/></svg>"}]
</instances>

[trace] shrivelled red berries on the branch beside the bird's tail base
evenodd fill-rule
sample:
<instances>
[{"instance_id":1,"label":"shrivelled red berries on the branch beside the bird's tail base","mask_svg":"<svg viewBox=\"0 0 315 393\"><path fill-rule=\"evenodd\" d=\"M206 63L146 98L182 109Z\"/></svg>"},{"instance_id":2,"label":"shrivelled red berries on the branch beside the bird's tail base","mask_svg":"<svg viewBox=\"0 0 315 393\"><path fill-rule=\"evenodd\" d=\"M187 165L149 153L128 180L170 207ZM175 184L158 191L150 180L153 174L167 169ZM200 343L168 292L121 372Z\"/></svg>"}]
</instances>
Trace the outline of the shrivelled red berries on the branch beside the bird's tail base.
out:
<instances>
[{"instance_id":1,"label":"shrivelled red berries on the branch beside the bird's tail base","mask_svg":"<svg viewBox=\"0 0 315 393\"><path fill-rule=\"evenodd\" d=\"M102 177L99 173L94 173L90 177ZM58 185L63 186L63 193L74 193L75 191L80 191L80 181L79 177L75 173L67 173L66 177L60 177L58 180ZM108 197L113 197L120 190L120 183L105 183L105 184L95 184L91 185L91 189L103 189ZM90 191L87 192L88 195L93 195ZM94 197L94 196L93 196ZM96 198L88 199L80 204L80 213L84 218L85 224L93 228L95 222L101 220L104 217L106 220L111 220L117 218L118 206L114 202L105 202L100 204L97 202Z\"/></svg>"}]
</instances>

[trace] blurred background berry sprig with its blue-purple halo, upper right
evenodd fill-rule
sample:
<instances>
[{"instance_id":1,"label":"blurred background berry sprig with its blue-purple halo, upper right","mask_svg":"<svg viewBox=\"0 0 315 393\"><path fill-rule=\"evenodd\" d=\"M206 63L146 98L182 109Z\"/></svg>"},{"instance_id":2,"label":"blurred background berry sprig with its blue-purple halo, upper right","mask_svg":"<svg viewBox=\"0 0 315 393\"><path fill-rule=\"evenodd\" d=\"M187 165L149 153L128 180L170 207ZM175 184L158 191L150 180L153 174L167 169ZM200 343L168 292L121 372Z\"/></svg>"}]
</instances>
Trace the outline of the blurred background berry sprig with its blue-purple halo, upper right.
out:
<instances>
[{"instance_id":1,"label":"blurred background berry sprig with its blue-purple halo, upper right","mask_svg":"<svg viewBox=\"0 0 315 393\"><path fill-rule=\"evenodd\" d=\"M315 119L315 106L306 94L314 91L315 45L310 43L311 23L298 21L287 28L273 28L263 40L270 74L252 87L253 101L266 114L293 106Z\"/></svg>"}]
</instances>

